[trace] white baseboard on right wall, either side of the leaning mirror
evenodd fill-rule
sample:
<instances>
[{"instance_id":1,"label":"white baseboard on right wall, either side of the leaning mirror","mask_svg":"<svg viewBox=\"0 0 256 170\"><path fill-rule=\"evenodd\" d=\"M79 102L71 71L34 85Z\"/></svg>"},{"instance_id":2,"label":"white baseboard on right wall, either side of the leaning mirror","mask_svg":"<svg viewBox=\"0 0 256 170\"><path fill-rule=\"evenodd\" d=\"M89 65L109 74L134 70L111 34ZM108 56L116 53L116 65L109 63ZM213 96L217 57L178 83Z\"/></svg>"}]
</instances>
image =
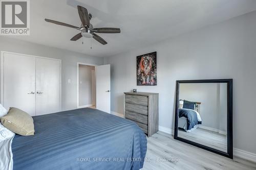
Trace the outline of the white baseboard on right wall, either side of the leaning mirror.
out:
<instances>
[{"instance_id":1,"label":"white baseboard on right wall, either side of the leaning mirror","mask_svg":"<svg viewBox=\"0 0 256 170\"><path fill-rule=\"evenodd\" d=\"M170 129L170 128L165 128L165 127L159 126L159 131L167 133L167 134L174 135L174 130ZM240 149L237 149L237 148L233 148L233 155L237 156L239 158L243 158L243 159L252 161L252 162L256 162L256 154L251 153L251 152L247 152L247 151L243 151L243 150L240 150Z\"/></svg>"}]
</instances>

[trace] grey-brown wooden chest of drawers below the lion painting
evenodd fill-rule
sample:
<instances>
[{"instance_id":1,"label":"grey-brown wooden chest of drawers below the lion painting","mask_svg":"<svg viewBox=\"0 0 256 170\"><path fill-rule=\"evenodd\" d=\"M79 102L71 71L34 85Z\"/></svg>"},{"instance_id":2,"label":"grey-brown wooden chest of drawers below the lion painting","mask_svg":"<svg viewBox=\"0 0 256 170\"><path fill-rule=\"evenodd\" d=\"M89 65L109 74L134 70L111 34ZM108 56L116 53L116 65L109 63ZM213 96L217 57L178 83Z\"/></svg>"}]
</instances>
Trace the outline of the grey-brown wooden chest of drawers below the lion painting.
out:
<instances>
[{"instance_id":1,"label":"grey-brown wooden chest of drawers below the lion painting","mask_svg":"<svg viewBox=\"0 0 256 170\"><path fill-rule=\"evenodd\" d=\"M124 92L123 113L150 137L158 131L158 93Z\"/></svg>"}]
</instances>

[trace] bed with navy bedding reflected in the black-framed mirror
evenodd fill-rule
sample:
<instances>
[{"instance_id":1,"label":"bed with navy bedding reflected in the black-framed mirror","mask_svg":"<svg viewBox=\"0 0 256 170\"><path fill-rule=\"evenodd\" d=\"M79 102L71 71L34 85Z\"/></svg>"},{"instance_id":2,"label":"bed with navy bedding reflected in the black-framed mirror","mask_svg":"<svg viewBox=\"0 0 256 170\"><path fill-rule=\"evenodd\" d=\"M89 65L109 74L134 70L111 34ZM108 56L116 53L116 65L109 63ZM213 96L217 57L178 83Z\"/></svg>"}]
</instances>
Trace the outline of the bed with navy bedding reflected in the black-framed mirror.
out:
<instances>
[{"instance_id":1,"label":"bed with navy bedding reflected in the black-framed mirror","mask_svg":"<svg viewBox=\"0 0 256 170\"><path fill-rule=\"evenodd\" d=\"M184 102L186 102L186 106L183 106ZM197 129L198 125L202 124L202 119L199 114L200 105L200 102L180 100L178 120L179 129L184 130L185 132L191 132Z\"/></svg>"}]
</instances>

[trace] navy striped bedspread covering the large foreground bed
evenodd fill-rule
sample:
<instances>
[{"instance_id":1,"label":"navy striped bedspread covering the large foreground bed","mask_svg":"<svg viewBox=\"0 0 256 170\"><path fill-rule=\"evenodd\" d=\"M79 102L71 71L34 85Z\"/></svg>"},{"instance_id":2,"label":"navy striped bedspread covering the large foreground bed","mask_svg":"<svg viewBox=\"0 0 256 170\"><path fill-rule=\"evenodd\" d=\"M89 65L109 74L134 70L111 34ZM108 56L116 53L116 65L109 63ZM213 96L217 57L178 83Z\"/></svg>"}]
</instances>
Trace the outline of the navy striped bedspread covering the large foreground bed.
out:
<instances>
[{"instance_id":1,"label":"navy striped bedspread covering the large foreground bed","mask_svg":"<svg viewBox=\"0 0 256 170\"><path fill-rule=\"evenodd\" d=\"M13 138L14 170L143 167L146 136L130 120L91 108L33 119L33 136Z\"/></svg>"}]
</instances>

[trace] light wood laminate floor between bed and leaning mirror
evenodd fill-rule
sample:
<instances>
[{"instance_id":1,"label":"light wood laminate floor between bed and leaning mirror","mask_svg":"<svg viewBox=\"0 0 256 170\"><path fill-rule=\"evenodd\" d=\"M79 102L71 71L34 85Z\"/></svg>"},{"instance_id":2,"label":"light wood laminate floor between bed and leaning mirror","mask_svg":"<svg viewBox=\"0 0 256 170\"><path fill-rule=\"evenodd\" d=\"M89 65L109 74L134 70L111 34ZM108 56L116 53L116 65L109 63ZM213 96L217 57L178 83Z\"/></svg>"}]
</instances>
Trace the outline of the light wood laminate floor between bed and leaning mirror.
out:
<instances>
[{"instance_id":1,"label":"light wood laminate floor between bed and leaning mirror","mask_svg":"<svg viewBox=\"0 0 256 170\"><path fill-rule=\"evenodd\" d=\"M165 159L165 160L164 160ZM179 159L175 162L171 159ZM175 140L172 135L157 132L147 138L147 153L143 170L192 169L256 169L256 163L234 157L229 159Z\"/></svg>"}]
</instances>

